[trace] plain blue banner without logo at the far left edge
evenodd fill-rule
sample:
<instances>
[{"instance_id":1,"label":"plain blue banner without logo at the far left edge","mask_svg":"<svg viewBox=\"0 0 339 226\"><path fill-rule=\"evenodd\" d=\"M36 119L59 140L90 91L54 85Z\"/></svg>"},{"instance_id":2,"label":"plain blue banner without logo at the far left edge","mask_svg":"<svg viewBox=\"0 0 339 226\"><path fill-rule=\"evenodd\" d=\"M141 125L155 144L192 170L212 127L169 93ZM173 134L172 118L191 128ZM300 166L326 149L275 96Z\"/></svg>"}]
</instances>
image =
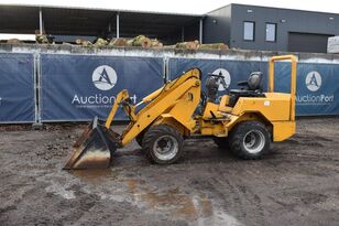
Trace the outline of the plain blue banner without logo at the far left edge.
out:
<instances>
[{"instance_id":1,"label":"plain blue banner without logo at the far left edge","mask_svg":"<svg viewBox=\"0 0 339 226\"><path fill-rule=\"evenodd\" d=\"M34 122L34 56L0 54L0 122Z\"/></svg>"}]
</instances>

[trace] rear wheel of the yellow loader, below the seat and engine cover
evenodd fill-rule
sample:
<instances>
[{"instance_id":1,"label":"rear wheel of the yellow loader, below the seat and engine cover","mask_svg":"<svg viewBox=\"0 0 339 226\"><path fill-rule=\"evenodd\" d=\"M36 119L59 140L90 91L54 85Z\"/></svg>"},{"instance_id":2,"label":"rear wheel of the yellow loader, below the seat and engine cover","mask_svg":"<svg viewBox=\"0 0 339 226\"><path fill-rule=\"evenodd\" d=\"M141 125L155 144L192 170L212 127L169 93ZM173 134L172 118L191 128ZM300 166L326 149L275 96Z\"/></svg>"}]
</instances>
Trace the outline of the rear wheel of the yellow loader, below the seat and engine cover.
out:
<instances>
[{"instance_id":1,"label":"rear wheel of the yellow loader, below the seat and engine cover","mask_svg":"<svg viewBox=\"0 0 339 226\"><path fill-rule=\"evenodd\" d=\"M260 159L270 150L271 136L260 121L243 121L232 129L230 149L241 159Z\"/></svg>"}]
</instances>

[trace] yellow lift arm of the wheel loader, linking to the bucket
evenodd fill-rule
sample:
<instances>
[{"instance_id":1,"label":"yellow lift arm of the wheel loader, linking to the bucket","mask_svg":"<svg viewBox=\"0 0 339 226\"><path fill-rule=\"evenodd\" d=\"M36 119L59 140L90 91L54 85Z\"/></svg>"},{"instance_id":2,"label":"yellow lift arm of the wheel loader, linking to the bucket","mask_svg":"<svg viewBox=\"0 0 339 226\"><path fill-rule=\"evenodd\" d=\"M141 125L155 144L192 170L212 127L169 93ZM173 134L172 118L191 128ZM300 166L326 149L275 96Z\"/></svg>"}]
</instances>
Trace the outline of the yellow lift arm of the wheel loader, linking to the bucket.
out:
<instances>
[{"instance_id":1,"label":"yellow lift arm of the wheel loader, linking to the bucket","mask_svg":"<svg viewBox=\"0 0 339 226\"><path fill-rule=\"evenodd\" d=\"M190 131L193 129L193 122L190 119L200 100L200 77L201 72L199 69L190 69L175 80L166 83L160 89L144 97L142 101L135 106L125 104L129 94L127 90L122 90L118 94L117 103L114 103L111 112L107 118L106 128L109 129L111 127L118 105L122 104L131 122L122 132L121 142L119 143L121 147L127 146L151 123L161 119L163 114L175 114L176 116L174 116L174 118L179 120L178 122ZM147 105L139 112L135 112L136 106L141 104ZM176 109L183 105L185 105L185 110L178 112L179 110ZM190 110L186 109L187 105L192 106ZM168 117L168 115L166 117Z\"/></svg>"}]
</instances>

